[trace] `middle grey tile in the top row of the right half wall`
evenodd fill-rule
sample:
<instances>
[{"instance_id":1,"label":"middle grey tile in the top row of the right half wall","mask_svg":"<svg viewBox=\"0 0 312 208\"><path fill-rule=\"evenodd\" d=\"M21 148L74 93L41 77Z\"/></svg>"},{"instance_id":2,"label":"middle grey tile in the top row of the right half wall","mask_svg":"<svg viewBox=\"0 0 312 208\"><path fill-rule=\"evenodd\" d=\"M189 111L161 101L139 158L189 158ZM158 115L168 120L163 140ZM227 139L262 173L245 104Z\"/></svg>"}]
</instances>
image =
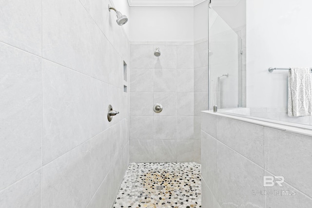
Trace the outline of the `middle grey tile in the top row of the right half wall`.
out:
<instances>
[{"instance_id":1,"label":"middle grey tile in the top row of the right half wall","mask_svg":"<svg viewBox=\"0 0 312 208\"><path fill-rule=\"evenodd\" d=\"M264 168L263 126L218 116L216 131L219 141Z\"/></svg>"}]
</instances>

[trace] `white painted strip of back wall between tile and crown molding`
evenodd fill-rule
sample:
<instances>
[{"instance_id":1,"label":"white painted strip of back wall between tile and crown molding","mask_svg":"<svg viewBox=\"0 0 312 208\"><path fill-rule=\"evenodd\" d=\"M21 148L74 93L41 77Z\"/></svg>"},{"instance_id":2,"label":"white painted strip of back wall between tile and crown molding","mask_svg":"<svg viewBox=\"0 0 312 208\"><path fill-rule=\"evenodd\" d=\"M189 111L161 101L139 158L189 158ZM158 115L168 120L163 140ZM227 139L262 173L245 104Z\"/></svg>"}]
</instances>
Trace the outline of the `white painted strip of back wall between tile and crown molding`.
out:
<instances>
[{"instance_id":1,"label":"white painted strip of back wall between tile and crown molding","mask_svg":"<svg viewBox=\"0 0 312 208\"><path fill-rule=\"evenodd\" d=\"M193 41L193 7L131 7L131 41Z\"/></svg>"}]
</instances>

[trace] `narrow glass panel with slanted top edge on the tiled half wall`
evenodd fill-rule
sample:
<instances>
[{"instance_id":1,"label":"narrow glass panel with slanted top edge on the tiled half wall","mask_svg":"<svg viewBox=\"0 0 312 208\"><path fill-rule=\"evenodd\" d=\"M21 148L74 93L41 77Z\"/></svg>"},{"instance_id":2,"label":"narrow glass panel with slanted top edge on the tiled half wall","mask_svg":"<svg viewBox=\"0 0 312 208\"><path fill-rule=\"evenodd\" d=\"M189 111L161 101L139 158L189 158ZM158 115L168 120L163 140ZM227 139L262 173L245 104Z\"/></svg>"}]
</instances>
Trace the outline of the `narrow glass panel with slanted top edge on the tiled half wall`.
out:
<instances>
[{"instance_id":1,"label":"narrow glass panel with slanted top edge on the tiled half wall","mask_svg":"<svg viewBox=\"0 0 312 208\"><path fill-rule=\"evenodd\" d=\"M242 41L209 8L209 109L242 106Z\"/></svg>"}]
</instances>

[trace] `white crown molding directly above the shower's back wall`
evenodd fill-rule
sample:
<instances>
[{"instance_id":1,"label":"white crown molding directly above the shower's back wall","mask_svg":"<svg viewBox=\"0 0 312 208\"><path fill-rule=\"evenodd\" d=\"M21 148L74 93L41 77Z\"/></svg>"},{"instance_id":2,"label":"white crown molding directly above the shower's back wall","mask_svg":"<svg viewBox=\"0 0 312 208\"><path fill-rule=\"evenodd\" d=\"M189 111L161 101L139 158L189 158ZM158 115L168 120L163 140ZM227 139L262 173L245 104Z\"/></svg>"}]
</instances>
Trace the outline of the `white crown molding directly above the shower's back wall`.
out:
<instances>
[{"instance_id":1,"label":"white crown molding directly above the shower's back wall","mask_svg":"<svg viewBox=\"0 0 312 208\"><path fill-rule=\"evenodd\" d=\"M193 7L205 0L128 0L129 6L188 6Z\"/></svg>"}]
</instances>

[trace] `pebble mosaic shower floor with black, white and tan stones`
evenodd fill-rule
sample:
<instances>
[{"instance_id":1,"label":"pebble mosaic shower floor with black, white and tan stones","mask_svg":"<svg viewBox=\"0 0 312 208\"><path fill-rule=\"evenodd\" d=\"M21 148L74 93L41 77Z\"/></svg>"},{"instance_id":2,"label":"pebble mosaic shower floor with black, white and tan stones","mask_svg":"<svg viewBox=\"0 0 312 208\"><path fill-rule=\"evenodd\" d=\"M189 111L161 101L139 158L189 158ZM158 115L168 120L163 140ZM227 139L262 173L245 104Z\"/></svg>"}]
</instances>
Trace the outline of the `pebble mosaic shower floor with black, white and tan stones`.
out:
<instances>
[{"instance_id":1,"label":"pebble mosaic shower floor with black, white and tan stones","mask_svg":"<svg viewBox=\"0 0 312 208\"><path fill-rule=\"evenodd\" d=\"M197 163L130 163L113 208L201 208Z\"/></svg>"}]
</instances>

